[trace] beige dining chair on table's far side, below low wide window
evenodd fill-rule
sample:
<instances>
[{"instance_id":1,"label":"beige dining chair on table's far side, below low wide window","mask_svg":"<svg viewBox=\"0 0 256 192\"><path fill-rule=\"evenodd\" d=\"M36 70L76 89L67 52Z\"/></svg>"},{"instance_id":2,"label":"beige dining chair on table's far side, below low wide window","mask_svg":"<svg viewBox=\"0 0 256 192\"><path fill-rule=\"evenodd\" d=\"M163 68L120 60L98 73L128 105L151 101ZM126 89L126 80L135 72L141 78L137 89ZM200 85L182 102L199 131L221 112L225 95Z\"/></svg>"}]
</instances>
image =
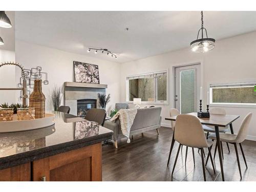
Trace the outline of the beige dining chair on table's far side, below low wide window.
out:
<instances>
[{"instance_id":1,"label":"beige dining chair on table's far side, below low wide window","mask_svg":"<svg viewBox=\"0 0 256 192\"><path fill-rule=\"evenodd\" d=\"M224 108L210 108L209 113L210 114L216 114L216 115L226 115L226 110ZM215 128L214 127L203 125L203 129L204 129L205 132L207 132L206 139L208 139L209 133L215 133ZM226 133L227 131L228 131L227 128L219 130L220 133ZM228 148L228 153L230 153L228 143L226 143L226 144L227 144L227 148ZM215 159L215 156L216 156L216 152L217 152L217 145L215 146L214 159ZM221 142L221 155L222 155L222 159L224 159L222 142Z\"/></svg>"}]
</instances>

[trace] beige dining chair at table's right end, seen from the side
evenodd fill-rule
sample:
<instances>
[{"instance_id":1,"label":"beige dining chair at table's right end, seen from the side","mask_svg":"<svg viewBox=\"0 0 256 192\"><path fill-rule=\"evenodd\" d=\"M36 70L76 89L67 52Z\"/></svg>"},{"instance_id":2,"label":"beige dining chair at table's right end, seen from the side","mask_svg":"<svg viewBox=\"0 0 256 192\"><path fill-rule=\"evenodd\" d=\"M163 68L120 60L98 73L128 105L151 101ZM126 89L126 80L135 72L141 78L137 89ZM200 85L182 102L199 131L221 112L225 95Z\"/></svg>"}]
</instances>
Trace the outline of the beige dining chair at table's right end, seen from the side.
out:
<instances>
[{"instance_id":1,"label":"beige dining chair at table's right end, seen from the side","mask_svg":"<svg viewBox=\"0 0 256 192\"><path fill-rule=\"evenodd\" d=\"M239 155L238 155L238 147L237 144L240 145L241 148L241 152L244 158L244 162L247 168L247 163L246 163L246 159L245 159L245 155L244 155L244 151L243 151L243 147L242 147L242 142L245 140L247 132L248 132L248 128L249 128L249 123L252 117L252 113L248 113L245 118L243 119L241 125L240 125L240 129L237 135L235 134L229 134L229 133L220 133L220 141L224 141L227 143L231 143L234 145L234 149L236 150L236 155L237 155L237 161L238 161L238 168L239 168L239 173L240 173L240 178L242 179L242 174L241 174L241 167L240 167L240 161L239 161ZM214 139L216 140L216 134L210 134L209 135L210 139ZM207 157L208 159L209 157Z\"/></svg>"}]
</instances>

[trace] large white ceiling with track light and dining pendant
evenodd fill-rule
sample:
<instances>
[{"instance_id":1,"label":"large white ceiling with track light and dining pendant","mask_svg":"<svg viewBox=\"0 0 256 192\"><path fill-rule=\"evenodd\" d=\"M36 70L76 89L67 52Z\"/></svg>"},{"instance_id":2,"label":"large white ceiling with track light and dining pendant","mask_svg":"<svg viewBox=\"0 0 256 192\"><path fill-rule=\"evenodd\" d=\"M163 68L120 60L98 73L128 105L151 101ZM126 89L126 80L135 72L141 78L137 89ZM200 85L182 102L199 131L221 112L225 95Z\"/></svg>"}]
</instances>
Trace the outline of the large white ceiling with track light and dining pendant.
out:
<instances>
[{"instance_id":1,"label":"large white ceiling with track light and dining pendant","mask_svg":"<svg viewBox=\"0 0 256 192\"><path fill-rule=\"evenodd\" d=\"M33 44L126 62L189 47L200 11L16 11L16 38ZM208 36L222 39L256 30L256 11L205 11ZM126 28L129 28L127 31ZM118 58L88 53L109 49Z\"/></svg>"}]
</instances>

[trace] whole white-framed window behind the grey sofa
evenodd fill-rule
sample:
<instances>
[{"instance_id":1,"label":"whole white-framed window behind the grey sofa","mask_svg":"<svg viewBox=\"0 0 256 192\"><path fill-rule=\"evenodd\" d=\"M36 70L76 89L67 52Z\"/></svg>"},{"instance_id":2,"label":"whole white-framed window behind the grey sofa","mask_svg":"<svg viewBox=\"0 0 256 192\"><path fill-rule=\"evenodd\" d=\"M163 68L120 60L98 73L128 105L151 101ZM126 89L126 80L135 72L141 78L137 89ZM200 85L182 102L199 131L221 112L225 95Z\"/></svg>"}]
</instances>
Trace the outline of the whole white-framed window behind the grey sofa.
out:
<instances>
[{"instance_id":1,"label":"whole white-framed window behind the grey sofa","mask_svg":"<svg viewBox=\"0 0 256 192\"><path fill-rule=\"evenodd\" d=\"M127 101L167 101L167 71L127 77Z\"/></svg>"}]
</instances>

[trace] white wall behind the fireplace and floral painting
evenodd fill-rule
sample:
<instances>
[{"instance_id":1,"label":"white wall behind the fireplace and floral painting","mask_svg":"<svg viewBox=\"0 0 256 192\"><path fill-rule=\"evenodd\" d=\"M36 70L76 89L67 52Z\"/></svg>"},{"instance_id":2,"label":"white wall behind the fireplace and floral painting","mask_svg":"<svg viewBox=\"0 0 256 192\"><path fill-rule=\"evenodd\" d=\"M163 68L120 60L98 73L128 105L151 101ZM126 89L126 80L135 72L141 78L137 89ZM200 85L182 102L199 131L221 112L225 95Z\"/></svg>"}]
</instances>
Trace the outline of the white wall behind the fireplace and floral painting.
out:
<instances>
[{"instance_id":1,"label":"white wall behind the fireplace and floral painting","mask_svg":"<svg viewBox=\"0 0 256 192\"><path fill-rule=\"evenodd\" d=\"M55 84L62 86L65 81L74 81L73 61L75 60L99 66L100 83L108 84L106 94L111 94L111 102L107 105L107 112L114 109L115 103L120 101L119 63L33 45L19 40L15 42L15 53L16 61L26 69L40 66L42 71L48 73L49 85L42 86L46 97ZM17 73L18 76L19 73ZM46 105L47 110L50 109L48 102Z\"/></svg>"}]
</instances>

